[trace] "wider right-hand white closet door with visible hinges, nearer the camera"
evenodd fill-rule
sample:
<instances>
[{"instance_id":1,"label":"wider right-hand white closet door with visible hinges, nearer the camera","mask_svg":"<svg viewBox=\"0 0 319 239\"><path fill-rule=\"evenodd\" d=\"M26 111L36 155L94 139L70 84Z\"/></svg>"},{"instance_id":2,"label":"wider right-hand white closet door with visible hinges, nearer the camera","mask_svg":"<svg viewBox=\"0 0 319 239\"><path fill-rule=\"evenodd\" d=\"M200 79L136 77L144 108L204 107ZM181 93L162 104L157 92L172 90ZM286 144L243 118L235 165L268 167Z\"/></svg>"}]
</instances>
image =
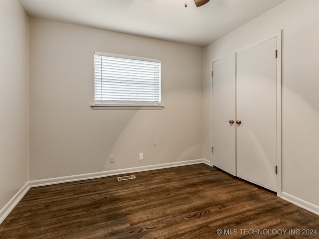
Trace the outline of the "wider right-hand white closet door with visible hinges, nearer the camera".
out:
<instances>
[{"instance_id":1,"label":"wider right-hand white closet door with visible hinges, nearer the camera","mask_svg":"<svg viewBox=\"0 0 319 239\"><path fill-rule=\"evenodd\" d=\"M277 38L237 52L237 176L277 192Z\"/></svg>"}]
</instances>

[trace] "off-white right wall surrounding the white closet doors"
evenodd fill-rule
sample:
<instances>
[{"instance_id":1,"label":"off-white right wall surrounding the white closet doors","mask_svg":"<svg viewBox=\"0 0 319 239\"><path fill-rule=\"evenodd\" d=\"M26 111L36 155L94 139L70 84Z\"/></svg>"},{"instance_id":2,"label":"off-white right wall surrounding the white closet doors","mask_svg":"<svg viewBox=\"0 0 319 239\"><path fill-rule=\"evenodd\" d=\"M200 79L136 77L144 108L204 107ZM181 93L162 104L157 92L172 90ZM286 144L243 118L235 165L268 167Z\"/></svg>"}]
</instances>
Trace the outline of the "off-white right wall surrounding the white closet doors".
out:
<instances>
[{"instance_id":1,"label":"off-white right wall surrounding the white closet doors","mask_svg":"<svg viewBox=\"0 0 319 239\"><path fill-rule=\"evenodd\" d=\"M319 214L319 1L287 0L204 48L204 158L212 160L212 62L283 29L283 197Z\"/></svg>"}]
</instances>

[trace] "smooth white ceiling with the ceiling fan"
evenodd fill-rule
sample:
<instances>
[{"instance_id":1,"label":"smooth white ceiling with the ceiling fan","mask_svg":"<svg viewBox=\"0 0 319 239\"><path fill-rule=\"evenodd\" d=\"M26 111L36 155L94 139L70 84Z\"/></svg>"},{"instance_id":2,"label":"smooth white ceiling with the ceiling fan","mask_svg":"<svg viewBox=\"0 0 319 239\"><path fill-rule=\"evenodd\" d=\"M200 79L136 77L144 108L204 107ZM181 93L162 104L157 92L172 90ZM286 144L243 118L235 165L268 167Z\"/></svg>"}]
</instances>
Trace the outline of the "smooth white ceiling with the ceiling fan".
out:
<instances>
[{"instance_id":1,"label":"smooth white ceiling with the ceiling fan","mask_svg":"<svg viewBox=\"0 0 319 239\"><path fill-rule=\"evenodd\" d=\"M284 0L20 0L29 16L206 46Z\"/></svg>"}]
</instances>

